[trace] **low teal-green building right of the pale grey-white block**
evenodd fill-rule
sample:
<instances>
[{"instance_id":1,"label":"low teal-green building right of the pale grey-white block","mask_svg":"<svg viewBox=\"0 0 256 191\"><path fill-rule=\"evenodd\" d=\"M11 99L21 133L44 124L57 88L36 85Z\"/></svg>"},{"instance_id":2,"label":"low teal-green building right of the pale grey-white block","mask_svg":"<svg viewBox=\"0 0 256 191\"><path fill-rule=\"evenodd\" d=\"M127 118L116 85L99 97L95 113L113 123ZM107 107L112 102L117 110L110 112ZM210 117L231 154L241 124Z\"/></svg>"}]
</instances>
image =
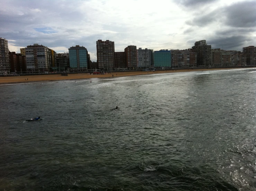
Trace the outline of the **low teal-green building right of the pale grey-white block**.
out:
<instances>
[{"instance_id":1,"label":"low teal-green building right of the pale grey-white block","mask_svg":"<svg viewBox=\"0 0 256 191\"><path fill-rule=\"evenodd\" d=\"M162 49L154 51L154 67L155 68L171 68L171 50Z\"/></svg>"}]
</instances>

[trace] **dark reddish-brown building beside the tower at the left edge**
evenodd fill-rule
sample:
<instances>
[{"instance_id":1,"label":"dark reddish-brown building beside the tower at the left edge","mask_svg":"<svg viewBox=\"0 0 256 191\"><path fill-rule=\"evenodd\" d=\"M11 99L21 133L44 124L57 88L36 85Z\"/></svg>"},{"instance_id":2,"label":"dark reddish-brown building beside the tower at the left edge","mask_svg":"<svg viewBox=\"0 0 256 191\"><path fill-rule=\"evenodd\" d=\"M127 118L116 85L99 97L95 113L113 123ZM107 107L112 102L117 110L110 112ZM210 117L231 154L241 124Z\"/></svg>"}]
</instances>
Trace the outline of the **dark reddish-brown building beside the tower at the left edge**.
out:
<instances>
[{"instance_id":1,"label":"dark reddish-brown building beside the tower at the left edge","mask_svg":"<svg viewBox=\"0 0 256 191\"><path fill-rule=\"evenodd\" d=\"M11 65L11 72L26 71L26 56L16 52L9 52L9 60Z\"/></svg>"}]
</instances>

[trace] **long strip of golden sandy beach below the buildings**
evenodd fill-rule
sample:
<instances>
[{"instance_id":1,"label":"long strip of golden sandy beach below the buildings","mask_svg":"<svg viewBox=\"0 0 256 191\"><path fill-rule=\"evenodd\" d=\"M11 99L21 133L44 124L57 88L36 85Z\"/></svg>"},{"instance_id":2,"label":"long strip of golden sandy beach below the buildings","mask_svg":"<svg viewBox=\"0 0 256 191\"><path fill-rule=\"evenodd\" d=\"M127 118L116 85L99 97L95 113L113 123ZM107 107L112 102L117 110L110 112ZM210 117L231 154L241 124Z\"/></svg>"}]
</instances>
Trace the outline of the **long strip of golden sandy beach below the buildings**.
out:
<instances>
[{"instance_id":1,"label":"long strip of golden sandy beach below the buildings","mask_svg":"<svg viewBox=\"0 0 256 191\"><path fill-rule=\"evenodd\" d=\"M112 75L113 77L121 77L121 76L137 76L137 75L150 75L150 74L163 74L163 73L176 73L176 72L189 72L189 71L225 70L225 69L237 69L237 68L127 71L127 72L112 72L104 75L103 74L90 75L88 73L83 73L83 74L68 74L68 76L61 76L61 74L8 76L8 77L0 77L0 84L29 83L29 82L43 82L43 81L57 81L57 80L71 80L71 79L111 78Z\"/></svg>"}]
</instances>

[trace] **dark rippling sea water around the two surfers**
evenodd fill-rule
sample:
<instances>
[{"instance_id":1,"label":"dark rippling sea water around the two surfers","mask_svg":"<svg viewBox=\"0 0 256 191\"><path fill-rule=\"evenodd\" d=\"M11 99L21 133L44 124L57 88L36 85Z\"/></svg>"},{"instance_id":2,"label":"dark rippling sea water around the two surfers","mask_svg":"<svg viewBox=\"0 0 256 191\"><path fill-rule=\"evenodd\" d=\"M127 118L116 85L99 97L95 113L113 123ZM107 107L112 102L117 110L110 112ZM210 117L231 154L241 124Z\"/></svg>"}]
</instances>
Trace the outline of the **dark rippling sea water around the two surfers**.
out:
<instances>
[{"instance_id":1,"label":"dark rippling sea water around the two surfers","mask_svg":"<svg viewBox=\"0 0 256 191\"><path fill-rule=\"evenodd\" d=\"M0 190L256 190L256 70L1 85L0 95Z\"/></svg>"}]
</instances>

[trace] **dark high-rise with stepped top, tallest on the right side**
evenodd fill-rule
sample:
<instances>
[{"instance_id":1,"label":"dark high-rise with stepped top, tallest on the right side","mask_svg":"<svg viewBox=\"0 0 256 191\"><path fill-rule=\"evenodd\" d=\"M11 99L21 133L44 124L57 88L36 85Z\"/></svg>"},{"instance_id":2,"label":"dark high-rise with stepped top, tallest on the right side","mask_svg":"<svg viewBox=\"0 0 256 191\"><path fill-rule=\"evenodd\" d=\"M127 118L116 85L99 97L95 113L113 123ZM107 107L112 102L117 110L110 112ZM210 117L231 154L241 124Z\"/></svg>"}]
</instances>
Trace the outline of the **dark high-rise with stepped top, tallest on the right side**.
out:
<instances>
[{"instance_id":1,"label":"dark high-rise with stepped top, tallest on the right side","mask_svg":"<svg viewBox=\"0 0 256 191\"><path fill-rule=\"evenodd\" d=\"M196 41L192 49L196 52L196 64L198 67L211 66L211 45L207 45L206 40Z\"/></svg>"}]
</instances>

